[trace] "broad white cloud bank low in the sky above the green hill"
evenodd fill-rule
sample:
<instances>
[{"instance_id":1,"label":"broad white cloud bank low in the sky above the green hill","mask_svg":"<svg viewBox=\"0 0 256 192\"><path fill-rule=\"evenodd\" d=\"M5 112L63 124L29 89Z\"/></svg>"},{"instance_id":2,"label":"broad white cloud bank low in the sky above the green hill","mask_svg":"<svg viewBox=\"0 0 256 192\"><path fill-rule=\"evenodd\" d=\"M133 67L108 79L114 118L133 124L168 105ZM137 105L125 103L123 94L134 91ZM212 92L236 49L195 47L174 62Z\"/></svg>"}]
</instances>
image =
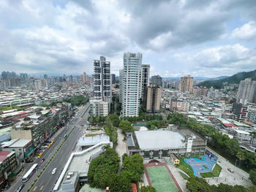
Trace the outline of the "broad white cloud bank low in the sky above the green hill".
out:
<instances>
[{"instance_id":1,"label":"broad white cloud bank low in the sky above the green hill","mask_svg":"<svg viewBox=\"0 0 256 192\"><path fill-rule=\"evenodd\" d=\"M196 76L217 77L255 69L256 51L235 44L211 47L197 53L177 53L173 58L180 64L191 64L190 73L195 72Z\"/></svg>"}]
</instances>

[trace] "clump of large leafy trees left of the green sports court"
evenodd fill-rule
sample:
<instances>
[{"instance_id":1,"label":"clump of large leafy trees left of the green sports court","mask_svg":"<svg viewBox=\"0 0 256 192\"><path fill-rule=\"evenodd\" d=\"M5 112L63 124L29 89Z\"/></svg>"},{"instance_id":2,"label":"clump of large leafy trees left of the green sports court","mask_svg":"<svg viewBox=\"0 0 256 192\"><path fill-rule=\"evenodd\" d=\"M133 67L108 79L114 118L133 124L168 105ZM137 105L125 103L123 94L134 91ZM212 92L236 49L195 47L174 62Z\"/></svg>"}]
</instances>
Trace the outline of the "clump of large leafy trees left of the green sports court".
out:
<instances>
[{"instance_id":1,"label":"clump of large leafy trees left of the green sports court","mask_svg":"<svg viewBox=\"0 0 256 192\"><path fill-rule=\"evenodd\" d=\"M124 155L123 169L120 174L116 174L119 162L116 151L107 147L103 155L91 161L88 172L90 186L92 188L109 186L110 191L113 192L128 192L131 183L138 183L140 175L144 173L143 158L140 154Z\"/></svg>"}]
</instances>

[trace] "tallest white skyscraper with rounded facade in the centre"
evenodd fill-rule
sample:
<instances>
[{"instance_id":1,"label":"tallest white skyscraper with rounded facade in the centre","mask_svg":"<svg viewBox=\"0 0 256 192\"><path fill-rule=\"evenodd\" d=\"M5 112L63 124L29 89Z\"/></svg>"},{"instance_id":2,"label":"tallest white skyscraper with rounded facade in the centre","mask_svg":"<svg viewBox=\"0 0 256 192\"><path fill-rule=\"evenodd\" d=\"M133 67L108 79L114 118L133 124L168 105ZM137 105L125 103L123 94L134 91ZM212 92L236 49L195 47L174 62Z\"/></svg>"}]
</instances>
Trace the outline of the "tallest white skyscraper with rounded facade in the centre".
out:
<instances>
[{"instance_id":1,"label":"tallest white skyscraper with rounded facade in the centre","mask_svg":"<svg viewBox=\"0 0 256 192\"><path fill-rule=\"evenodd\" d=\"M124 116L138 116L140 112L141 61L141 53L124 53L124 71L121 81L121 104Z\"/></svg>"}]
</instances>

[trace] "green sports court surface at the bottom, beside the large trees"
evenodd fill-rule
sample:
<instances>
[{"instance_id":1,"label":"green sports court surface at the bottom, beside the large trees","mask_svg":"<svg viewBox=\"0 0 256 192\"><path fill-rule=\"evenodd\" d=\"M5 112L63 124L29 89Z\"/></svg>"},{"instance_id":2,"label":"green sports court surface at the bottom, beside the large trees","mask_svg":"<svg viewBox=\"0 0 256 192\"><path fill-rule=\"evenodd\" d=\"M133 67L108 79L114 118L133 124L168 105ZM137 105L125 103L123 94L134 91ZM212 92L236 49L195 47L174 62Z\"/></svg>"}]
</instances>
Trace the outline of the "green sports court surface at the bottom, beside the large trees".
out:
<instances>
[{"instance_id":1,"label":"green sports court surface at the bottom, beside the large trees","mask_svg":"<svg viewBox=\"0 0 256 192\"><path fill-rule=\"evenodd\" d=\"M177 192L172 177L165 166L151 166L146 167L148 176L151 180L152 186L156 188L157 192Z\"/></svg>"}]
</instances>

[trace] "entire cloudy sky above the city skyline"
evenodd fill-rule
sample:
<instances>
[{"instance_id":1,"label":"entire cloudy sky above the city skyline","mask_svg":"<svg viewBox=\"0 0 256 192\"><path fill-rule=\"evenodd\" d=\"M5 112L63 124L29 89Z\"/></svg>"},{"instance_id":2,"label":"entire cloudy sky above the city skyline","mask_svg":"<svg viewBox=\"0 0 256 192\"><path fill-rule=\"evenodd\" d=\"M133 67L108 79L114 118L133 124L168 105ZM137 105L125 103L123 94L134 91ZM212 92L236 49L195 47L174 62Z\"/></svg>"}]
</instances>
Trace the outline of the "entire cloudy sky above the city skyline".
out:
<instances>
[{"instance_id":1,"label":"entire cloudy sky above the city skyline","mask_svg":"<svg viewBox=\"0 0 256 192\"><path fill-rule=\"evenodd\" d=\"M255 0L1 0L0 72L93 73L105 55L143 53L151 75L256 69Z\"/></svg>"}]
</instances>

